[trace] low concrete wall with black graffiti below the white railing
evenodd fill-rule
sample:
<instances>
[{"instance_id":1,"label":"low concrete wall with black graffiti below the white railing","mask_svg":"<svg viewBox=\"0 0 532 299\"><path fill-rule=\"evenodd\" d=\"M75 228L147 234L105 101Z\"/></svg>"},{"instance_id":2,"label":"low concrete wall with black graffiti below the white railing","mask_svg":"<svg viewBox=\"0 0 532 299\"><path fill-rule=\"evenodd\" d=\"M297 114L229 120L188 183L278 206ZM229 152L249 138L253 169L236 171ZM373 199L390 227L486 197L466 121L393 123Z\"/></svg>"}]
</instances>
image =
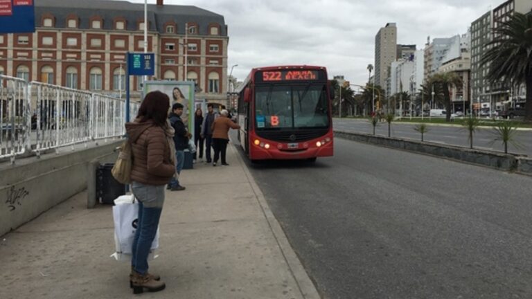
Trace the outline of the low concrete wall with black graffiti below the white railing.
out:
<instances>
[{"instance_id":1,"label":"low concrete wall with black graffiti below the white railing","mask_svg":"<svg viewBox=\"0 0 532 299\"><path fill-rule=\"evenodd\" d=\"M24 158L0 165L0 235L18 228L87 188L91 161L112 163L121 144L103 145L64 154Z\"/></svg>"}]
</instances>

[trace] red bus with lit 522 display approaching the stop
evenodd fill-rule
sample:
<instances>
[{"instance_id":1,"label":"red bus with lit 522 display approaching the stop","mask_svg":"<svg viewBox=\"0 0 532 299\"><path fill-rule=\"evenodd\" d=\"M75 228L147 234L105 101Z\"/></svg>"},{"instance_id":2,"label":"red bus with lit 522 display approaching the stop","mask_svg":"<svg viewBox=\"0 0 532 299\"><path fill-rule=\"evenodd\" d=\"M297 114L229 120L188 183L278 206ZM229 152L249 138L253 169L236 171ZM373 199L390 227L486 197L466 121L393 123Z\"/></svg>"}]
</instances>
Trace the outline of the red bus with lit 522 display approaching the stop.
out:
<instances>
[{"instance_id":1,"label":"red bus with lit 522 display approaching the stop","mask_svg":"<svg viewBox=\"0 0 532 299\"><path fill-rule=\"evenodd\" d=\"M332 156L334 91L326 68L252 69L237 92L238 141L251 161Z\"/></svg>"}]
</instances>

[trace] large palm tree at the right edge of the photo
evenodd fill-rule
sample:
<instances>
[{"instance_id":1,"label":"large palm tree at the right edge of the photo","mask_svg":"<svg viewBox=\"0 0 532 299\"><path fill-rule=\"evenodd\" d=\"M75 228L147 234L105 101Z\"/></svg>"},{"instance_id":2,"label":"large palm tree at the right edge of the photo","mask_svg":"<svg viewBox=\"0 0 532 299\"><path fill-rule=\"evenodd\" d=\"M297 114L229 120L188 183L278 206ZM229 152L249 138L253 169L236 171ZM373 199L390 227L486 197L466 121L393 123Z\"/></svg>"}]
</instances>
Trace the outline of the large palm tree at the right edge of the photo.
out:
<instances>
[{"instance_id":1,"label":"large palm tree at the right edge of the photo","mask_svg":"<svg viewBox=\"0 0 532 299\"><path fill-rule=\"evenodd\" d=\"M487 44L483 64L490 64L488 80L503 80L512 85L526 84L524 119L532 121L532 15L515 12L513 17L493 29L495 38Z\"/></svg>"}]
</instances>

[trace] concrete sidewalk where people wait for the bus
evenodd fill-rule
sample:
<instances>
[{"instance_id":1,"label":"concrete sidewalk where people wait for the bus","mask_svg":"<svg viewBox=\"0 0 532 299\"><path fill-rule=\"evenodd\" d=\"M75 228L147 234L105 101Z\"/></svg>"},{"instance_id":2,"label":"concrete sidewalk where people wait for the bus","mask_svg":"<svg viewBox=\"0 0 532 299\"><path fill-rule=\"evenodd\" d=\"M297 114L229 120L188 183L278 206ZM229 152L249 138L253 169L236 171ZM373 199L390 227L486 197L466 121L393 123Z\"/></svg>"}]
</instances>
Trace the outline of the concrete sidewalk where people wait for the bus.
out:
<instances>
[{"instance_id":1,"label":"concrete sidewalk where people wait for the bus","mask_svg":"<svg viewBox=\"0 0 532 299\"><path fill-rule=\"evenodd\" d=\"M198 162L166 193L150 263L165 290L132 294L130 264L109 257L112 208L87 210L82 193L1 237L0 298L319 298L232 145L227 162Z\"/></svg>"}]
</instances>

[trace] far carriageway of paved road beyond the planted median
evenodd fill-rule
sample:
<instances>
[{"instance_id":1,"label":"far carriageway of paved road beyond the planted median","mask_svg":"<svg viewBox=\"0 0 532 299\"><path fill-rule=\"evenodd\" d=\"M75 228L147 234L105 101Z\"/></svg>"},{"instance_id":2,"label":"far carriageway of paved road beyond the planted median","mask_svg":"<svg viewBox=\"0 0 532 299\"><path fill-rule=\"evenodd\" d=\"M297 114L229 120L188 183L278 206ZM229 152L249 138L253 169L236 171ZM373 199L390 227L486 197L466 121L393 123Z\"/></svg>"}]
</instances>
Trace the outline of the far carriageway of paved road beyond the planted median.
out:
<instances>
[{"instance_id":1,"label":"far carriageway of paved road beyond the planted median","mask_svg":"<svg viewBox=\"0 0 532 299\"><path fill-rule=\"evenodd\" d=\"M368 120L364 119L336 118L334 120L334 126L335 129L373 134L373 127ZM414 131L413 128L414 125L392 123L391 136L420 140L421 135ZM380 123L375 130L375 133L382 136L388 136L388 123ZM425 141L469 147L468 134L469 132L461 127L430 126L429 132L425 134ZM494 143L494 138L495 134L493 133L493 129L479 129L479 132L473 136L473 146L478 149L489 149L503 152L504 147L502 146L502 143L500 141ZM520 131L518 140L522 145L522 148L515 148L513 145L510 145L508 151L515 154L532 156L532 132Z\"/></svg>"}]
</instances>

